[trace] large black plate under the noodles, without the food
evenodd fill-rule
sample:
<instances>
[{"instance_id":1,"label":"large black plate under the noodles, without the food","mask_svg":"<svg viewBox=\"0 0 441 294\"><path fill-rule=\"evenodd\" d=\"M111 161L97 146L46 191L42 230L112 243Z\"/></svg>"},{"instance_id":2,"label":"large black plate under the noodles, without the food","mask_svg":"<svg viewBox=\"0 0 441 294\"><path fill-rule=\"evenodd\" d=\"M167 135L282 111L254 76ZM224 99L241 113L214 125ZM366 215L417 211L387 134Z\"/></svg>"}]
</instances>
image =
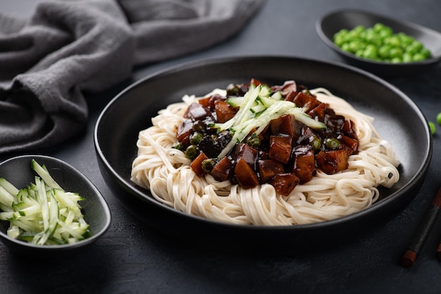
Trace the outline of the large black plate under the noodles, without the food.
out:
<instances>
[{"instance_id":1,"label":"large black plate under the noodles, without the food","mask_svg":"<svg viewBox=\"0 0 441 294\"><path fill-rule=\"evenodd\" d=\"M401 161L401 179L383 199L362 212L302 226L240 226L191 216L160 204L148 190L130 181L137 135L151 125L159 109L184 94L202 95L215 87L259 79L272 85L296 80L326 87L375 117L380 135L392 143ZM412 140L408 140L409 137ZM118 94L99 116L94 143L101 174L132 214L159 231L202 246L261 248L329 245L384 223L414 198L428 169L432 141L426 119L414 102L379 78L350 66L289 57L249 57L198 61L151 75ZM250 247L251 246L251 247Z\"/></svg>"}]
</instances>

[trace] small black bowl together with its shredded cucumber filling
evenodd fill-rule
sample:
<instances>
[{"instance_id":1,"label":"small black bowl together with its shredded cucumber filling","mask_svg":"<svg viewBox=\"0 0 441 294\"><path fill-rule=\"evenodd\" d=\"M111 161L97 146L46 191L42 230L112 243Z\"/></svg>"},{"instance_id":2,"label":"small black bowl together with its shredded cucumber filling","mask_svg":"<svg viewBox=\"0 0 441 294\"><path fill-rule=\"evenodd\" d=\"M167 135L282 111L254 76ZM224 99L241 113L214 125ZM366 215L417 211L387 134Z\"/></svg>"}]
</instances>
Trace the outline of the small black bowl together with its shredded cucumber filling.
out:
<instances>
[{"instance_id":1,"label":"small black bowl together with its shredded cucumber filling","mask_svg":"<svg viewBox=\"0 0 441 294\"><path fill-rule=\"evenodd\" d=\"M42 155L0 164L0 240L25 254L72 250L101 237L111 213L80 171Z\"/></svg>"}]
</instances>

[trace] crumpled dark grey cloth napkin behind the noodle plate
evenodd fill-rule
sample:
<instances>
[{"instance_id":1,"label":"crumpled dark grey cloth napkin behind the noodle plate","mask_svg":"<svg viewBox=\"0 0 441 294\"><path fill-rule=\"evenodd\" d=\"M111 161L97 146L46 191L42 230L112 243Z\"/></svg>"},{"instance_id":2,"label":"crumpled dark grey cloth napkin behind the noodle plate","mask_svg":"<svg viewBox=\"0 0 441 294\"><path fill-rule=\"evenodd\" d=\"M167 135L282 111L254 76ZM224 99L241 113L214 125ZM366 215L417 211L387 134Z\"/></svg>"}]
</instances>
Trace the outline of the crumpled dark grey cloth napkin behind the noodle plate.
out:
<instances>
[{"instance_id":1,"label":"crumpled dark grey cloth napkin behind the noodle plate","mask_svg":"<svg viewBox=\"0 0 441 294\"><path fill-rule=\"evenodd\" d=\"M87 122L84 91L134 66L212 46L246 25L263 0L51 0L32 18L0 13L0 153L73 137Z\"/></svg>"}]
</instances>

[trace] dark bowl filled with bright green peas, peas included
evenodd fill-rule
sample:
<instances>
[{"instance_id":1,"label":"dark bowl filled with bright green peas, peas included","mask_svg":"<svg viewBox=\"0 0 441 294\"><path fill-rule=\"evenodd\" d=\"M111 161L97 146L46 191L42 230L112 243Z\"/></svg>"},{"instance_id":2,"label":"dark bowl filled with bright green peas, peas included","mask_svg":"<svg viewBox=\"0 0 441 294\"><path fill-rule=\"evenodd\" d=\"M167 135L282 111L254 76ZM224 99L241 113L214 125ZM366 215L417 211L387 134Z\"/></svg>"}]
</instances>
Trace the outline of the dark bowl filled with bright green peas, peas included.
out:
<instances>
[{"instance_id":1,"label":"dark bowl filled with bright green peas, peas included","mask_svg":"<svg viewBox=\"0 0 441 294\"><path fill-rule=\"evenodd\" d=\"M440 32L368 11L328 13L316 30L344 60L383 77L430 71L441 60Z\"/></svg>"}]
</instances>

